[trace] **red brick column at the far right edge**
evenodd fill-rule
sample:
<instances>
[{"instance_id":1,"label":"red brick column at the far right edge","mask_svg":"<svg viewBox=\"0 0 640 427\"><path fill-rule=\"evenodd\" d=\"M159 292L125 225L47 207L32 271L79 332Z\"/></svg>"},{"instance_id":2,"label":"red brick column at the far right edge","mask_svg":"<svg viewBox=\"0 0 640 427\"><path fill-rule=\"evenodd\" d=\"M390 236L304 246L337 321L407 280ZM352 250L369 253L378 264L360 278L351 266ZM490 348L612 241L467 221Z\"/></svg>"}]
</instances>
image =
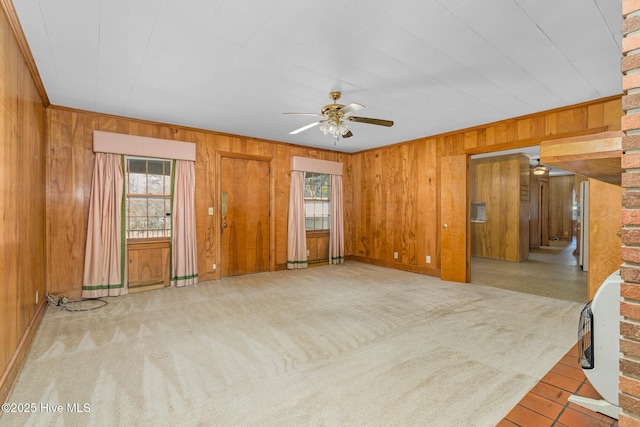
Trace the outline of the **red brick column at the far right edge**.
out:
<instances>
[{"instance_id":1,"label":"red brick column at the far right edge","mask_svg":"<svg viewBox=\"0 0 640 427\"><path fill-rule=\"evenodd\" d=\"M621 427L640 427L640 0L622 0Z\"/></svg>"}]
</instances>

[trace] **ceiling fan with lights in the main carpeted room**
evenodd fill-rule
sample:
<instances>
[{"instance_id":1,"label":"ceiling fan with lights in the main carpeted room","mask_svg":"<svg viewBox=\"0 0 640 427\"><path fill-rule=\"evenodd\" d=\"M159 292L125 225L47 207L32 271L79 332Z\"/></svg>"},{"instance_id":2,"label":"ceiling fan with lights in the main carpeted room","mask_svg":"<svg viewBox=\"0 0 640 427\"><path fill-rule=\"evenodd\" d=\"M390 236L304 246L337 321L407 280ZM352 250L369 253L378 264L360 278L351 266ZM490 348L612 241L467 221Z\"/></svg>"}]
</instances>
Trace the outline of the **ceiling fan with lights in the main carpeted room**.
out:
<instances>
[{"instance_id":1,"label":"ceiling fan with lights in the main carpeted room","mask_svg":"<svg viewBox=\"0 0 640 427\"><path fill-rule=\"evenodd\" d=\"M299 116L315 116L321 117L322 119L317 122L310 123L308 125L302 126L299 129L289 132L290 135L296 135L300 132L304 132L307 129L311 129L312 127L320 126L320 130L325 135L331 135L337 141L338 138L350 138L353 136L351 132L351 127L348 122L356 122L356 123L367 123L370 125L378 125L378 126L393 126L393 121L391 120L382 120L382 119L372 119L369 117L356 117L352 116L356 111L362 110L364 105L356 104L352 102L348 105L338 104L338 99L340 99L341 92L329 92L329 97L333 100L333 104L328 104L322 107L321 114L315 113L284 113L284 114L292 114Z\"/></svg>"}]
</instances>

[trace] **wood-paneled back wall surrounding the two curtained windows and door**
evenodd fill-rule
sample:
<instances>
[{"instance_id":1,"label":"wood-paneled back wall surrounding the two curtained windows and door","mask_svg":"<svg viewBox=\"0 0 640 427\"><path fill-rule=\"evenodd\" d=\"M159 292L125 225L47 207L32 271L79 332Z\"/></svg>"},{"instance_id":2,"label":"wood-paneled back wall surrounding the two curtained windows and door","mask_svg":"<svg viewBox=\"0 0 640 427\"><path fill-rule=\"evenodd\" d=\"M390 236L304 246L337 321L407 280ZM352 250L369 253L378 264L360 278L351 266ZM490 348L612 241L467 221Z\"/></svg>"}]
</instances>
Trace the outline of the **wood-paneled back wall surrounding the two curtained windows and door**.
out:
<instances>
[{"instance_id":1,"label":"wood-paneled back wall surrounding the two curtained windows and door","mask_svg":"<svg viewBox=\"0 0 640 427\"><path fill-rule=\"evenodd\" d=\"M219 153L262 156L273 159L271 172L275 212L275 265L287 261L287 220L291 156L312 157L345 164L345 194L349 188L349 155L304 148L216 132L114 117L66 108L50 107L48 206L47 206L47 289L75 296L82 287L86 227L94 154L93 131L163 138L196 143L196 229L200 281L218 278L213 264L219 264L220 224L208 208L218 209L220 195ZM351 204L345 196L345 235L350 235ZM350 241L350 239L348 239ZM345 248L349 251L350 248ZM349 252L347 252L349 253Z\"/></svg>"}]
</instances>

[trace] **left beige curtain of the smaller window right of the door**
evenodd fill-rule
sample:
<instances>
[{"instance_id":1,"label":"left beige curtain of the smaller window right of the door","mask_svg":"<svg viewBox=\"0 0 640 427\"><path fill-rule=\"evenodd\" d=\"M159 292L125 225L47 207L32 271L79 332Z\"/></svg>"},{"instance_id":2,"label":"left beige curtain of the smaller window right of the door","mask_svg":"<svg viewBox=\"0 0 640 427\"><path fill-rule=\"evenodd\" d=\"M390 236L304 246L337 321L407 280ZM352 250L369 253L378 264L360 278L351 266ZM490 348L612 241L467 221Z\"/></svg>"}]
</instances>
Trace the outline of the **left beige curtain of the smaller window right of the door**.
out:
<instances>
[{"instance_id":1,"label":"left beige curtain of the smaller window right of the door","mask_svg":"<svg viewBox=\"0 0 640 427\"><path fill-rule=\"evenodd\" d=\"M307 232L304 225L304 172L291 171L287 268L307 268Z\"/></svg>"}]
</instances>

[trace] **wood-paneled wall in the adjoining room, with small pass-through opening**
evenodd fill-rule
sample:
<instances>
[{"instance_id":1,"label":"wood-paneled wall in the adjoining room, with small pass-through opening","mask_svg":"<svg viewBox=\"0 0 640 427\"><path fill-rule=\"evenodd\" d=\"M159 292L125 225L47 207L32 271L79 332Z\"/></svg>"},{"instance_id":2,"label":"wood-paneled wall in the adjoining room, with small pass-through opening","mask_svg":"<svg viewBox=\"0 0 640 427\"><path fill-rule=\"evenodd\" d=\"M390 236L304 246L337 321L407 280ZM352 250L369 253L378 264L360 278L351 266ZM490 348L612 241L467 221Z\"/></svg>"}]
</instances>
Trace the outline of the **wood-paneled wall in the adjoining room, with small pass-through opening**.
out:
<instances>
[{"instance_id":1,"label":"wood-paneled wall in the adjoining room, with small pass-through opening","mask_svg":"<svg viewBox=\"0 0 640 427\"><path fill-rule=\"evenodd\" d=\"M471 162L471 202L486 221L471 224L471 255L506 261L529 256L529 158L523 154Z\"/></svg>"}]
</instances>

